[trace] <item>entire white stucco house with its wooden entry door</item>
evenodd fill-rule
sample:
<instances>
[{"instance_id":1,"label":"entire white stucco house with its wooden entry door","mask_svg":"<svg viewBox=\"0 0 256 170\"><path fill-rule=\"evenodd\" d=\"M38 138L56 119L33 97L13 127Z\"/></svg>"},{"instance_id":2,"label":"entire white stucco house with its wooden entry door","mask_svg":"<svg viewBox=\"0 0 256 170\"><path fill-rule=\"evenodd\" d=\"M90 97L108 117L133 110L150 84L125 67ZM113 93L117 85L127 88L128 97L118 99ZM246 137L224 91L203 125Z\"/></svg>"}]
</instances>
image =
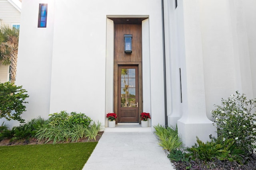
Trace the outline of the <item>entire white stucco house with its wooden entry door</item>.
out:
<instances>
[{"instance_id":1,"label":"entire white stucco house with its wooden entry door","mask_svg":"<svg viewBox=\"0 0 256 170\"><path fill-rule=\"evenodd\" d=\"M23 0L22 117L76 111L107 128L106 113L140 123L144 111L152 131L177 124L186 146L206 141L214 104L237 90L256 98L255 9L255 0Z\"/></svg>"}]
</instances>

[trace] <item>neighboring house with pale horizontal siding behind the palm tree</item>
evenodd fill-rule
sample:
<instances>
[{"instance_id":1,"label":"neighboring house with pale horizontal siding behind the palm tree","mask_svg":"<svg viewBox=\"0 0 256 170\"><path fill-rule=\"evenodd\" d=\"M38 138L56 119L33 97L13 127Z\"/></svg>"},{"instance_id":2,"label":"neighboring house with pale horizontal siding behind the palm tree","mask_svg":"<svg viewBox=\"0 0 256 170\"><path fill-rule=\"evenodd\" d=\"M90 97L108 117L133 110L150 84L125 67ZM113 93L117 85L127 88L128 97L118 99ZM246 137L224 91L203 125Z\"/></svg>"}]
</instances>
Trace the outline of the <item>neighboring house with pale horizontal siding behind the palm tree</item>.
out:
<instances>
[{"instance_id":1,"label":"neighboring house with pale horizontal siding behind the palm tree","mask_svg":"<svg viewBox=\"0 0 256 170\"><path fill-rule=\"evenodd\" d=\"M19 0L0 0L0 26L10 25L20 28L21 2ZM10 80L10 66L0 63L0 82Z\"/></svg>"}]
</instances>

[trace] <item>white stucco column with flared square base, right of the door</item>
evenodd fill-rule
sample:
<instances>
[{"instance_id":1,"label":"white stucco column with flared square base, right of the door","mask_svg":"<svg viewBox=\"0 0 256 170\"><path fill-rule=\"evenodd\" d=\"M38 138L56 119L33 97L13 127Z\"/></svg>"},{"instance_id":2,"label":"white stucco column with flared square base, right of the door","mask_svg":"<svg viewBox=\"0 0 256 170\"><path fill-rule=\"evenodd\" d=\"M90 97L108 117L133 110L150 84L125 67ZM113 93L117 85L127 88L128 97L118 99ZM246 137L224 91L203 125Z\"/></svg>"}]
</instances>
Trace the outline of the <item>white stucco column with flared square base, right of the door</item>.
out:
<instances>
[{"instance_id":1,"label":"white stucco column with flared square base, right of the door","mask_svg":"<svg viewBox=\"0 0 256 170\"><path fill-rule=\"evenodd\" d=\"M182 117L178 133L186 147L216 136L216 128L206 116L202 39L200 29L200 0L183 0L184 51L181 59Z\"/></svg>"}]
</instances>

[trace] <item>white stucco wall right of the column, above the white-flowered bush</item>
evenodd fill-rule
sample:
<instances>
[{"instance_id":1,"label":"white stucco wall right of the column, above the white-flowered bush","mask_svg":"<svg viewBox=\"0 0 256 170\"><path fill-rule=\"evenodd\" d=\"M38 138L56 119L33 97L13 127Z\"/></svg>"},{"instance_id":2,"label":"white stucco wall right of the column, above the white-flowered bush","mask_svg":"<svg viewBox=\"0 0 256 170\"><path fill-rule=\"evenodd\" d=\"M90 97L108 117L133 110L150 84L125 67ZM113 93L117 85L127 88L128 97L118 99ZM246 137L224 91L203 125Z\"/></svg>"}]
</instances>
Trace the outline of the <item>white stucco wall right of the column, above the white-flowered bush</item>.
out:
<instances>
[{"instance_id":1,"label":"white stucco wall right of the column, above the white-flowered bush","mask_svg":"<svg viewBox=\"0 0 256 170\"><path fill-rule=\"evenodd\" d=\"M220 5L221 4L221 5ZM237 90L255 98L255 1L200 1L206 112ZM249 9L248 9L249 8ZM218 11L216 13L216 11Z\"/></svg>"}]
</instances>

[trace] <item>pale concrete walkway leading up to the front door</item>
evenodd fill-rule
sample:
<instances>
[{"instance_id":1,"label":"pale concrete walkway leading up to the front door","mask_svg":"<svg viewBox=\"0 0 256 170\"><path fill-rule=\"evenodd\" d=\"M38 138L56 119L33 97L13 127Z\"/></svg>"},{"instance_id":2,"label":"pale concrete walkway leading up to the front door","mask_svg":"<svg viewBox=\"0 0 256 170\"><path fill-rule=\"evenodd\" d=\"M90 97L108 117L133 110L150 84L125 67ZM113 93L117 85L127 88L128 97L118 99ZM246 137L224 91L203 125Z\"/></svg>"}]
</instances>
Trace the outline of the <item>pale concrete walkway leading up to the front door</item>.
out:
<instances>
[{"instance_id":1,"label":"pale concrete walkway leading up to the front door","mask_svg":"<svg viewBox=\"0 0 256 170\"><path fill-rule=\"evenodd\" d=\"M152 132L104 132L83 170L174 170Z\"/></svg>"}]
</instances>

